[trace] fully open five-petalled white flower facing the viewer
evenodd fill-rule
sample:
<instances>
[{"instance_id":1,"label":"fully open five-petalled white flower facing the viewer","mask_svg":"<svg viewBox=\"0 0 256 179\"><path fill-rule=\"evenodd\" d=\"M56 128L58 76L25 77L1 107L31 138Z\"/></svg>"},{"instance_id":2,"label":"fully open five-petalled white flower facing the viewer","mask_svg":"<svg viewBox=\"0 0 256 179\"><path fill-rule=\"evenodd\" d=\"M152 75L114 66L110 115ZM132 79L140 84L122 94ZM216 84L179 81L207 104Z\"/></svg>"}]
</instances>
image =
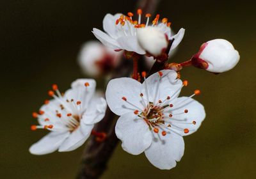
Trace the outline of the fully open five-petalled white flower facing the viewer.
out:
<instances>
[{"instance_id":1,"label":"fully open five-petalled white flower facing the viewer","mask_svg":"<svg viewBox=\"0 0 256 179\"><path fill-rule=\"evenodd\" d=\"M143 84L127 77L109 81L106 100L120 116L115 132L126 152L145 152L159 169L176 166L184 153L182 136L195 132L205 118L203 105L191 98L199 90L190 97L178 97L187 84L173 70L150 75Z\"/></svg>"}]
</instances>

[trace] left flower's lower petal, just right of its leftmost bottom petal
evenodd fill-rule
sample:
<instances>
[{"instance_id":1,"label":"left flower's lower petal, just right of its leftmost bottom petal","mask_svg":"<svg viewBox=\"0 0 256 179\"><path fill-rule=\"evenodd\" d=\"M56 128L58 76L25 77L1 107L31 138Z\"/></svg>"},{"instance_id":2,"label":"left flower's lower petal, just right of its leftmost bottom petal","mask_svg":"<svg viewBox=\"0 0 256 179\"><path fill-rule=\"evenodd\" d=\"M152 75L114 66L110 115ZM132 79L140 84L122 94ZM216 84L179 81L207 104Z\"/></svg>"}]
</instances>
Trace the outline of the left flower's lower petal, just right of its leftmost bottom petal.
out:
<instances>
[{"instance_id":1,"label":"left flower's lower petal, just right of its leftmost bottom petal","mask_svg":"<svg viewBox=\"0 0 256 179\"><path fill-rule=\"evenodd\" d=\"M92 132L93 125L80 123L80 127L74 130L70 136L61 144L59 152L69 152L79 148Z\"/></svg>"}]
</instances>

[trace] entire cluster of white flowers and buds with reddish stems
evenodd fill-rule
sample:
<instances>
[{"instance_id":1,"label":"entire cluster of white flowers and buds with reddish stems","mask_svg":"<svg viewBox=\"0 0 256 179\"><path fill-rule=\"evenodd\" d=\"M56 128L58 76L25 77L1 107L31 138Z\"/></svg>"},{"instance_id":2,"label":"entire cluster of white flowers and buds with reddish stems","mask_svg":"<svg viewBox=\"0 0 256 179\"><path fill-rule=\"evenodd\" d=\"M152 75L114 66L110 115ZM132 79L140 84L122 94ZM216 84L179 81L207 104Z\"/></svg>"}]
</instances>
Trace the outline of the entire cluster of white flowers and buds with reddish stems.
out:
<instances>
[{"instance_id":1,"label":"entire cluster of white flowers and buds with reddish stems","mask_svg":"<svg viewBox=\"0 0 256 179\"><path fill-rule=\"evenodd\" d=\"M215 39L203 43L188 61L168 63L185 29L180 28L175 34L167 18L160 19L158 14L152 18L150 13L143 18L140 9L137 15L135 20L131 12L107 14L104 32L93 28L92 33L102 43L84 44L78 62L84 74L108 82L105 95L96 92L94 79L77 79L65 93L52 85L48 92L52 99L45 100L33 113L39 125L31 126L31 130L43 128L49 134L33 144L29 152L43 155L75 150L91 134L97 142L104 143L108 131L93 127L100 125L102 119L115 121L105 116L109 107L120 116L115 134L126 152L144 152L159 169L171 169L180 161L183 137L196 132L205 119L204 106L193 99L200 95L199 89L189 97L179 97L181 89L188 86L188 81L180 79L180 70L196 66L214 74L226 72L236 66L239 53L227 40ZM118 73L125 61L123 54L133 59L133 69L128 77L113 78L111 75L115 76L113 73ZM145 61L147 72L138 68L138 61Z\"/></svg>"}]
</instances>

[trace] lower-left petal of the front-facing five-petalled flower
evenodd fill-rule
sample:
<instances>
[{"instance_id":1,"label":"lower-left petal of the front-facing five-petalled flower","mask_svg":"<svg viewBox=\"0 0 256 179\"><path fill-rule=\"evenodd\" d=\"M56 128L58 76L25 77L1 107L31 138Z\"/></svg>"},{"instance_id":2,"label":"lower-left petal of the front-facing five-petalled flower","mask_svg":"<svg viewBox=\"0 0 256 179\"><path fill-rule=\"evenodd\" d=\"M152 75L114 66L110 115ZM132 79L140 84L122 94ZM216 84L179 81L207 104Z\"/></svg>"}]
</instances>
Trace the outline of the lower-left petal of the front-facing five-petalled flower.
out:
<instances>
[{"instance_id":1,"label":"lower-left petal of the front-facing five-petalled flower","mask_svg":"<svg viewBox=\"0 0 256 179\"><path fill-rule=\"evenodd\" d=\"M126 113L116 123L116 136L122 140L122 148L133 155L144 152L152 143L147 123L134 113Z\"/></svg>"}]
</instances>

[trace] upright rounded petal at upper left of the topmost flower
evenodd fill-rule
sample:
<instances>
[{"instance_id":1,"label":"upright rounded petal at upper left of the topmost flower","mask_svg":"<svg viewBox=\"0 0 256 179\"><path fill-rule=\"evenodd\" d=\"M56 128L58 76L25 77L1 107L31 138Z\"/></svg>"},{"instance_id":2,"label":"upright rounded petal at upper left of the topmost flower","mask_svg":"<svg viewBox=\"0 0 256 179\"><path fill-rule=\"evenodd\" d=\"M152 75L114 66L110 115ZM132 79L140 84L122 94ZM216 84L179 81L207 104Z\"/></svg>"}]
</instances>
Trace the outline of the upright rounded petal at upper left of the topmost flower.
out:
<instances>
[{"instance_id":1,"label":"upright rounded petal at upper left of the topmost flower","mask_svg":"<svg viewBox=\"0 0 256 179\"><path fill-rule=\"evenodd\" d=\"M103 19L103 29L112 38L117 38L117 29L115 22L120 17L120 15L121 13L115 15L111 15L110 13L108 13Z\"/></svg>"}]
</instances>

